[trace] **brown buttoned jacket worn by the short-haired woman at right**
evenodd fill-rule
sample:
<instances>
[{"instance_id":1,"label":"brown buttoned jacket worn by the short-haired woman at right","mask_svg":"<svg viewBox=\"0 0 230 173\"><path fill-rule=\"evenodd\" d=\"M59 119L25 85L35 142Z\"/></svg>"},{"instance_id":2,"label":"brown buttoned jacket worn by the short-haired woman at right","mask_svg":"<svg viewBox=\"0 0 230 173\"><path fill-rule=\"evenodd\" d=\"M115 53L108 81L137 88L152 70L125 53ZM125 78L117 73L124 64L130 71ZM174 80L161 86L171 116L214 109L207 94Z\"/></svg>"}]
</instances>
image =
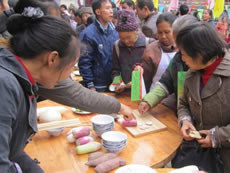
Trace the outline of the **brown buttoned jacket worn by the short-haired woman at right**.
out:
<instances>
[{"instance_id":1,"label":"brown buttoned jacket worn by the short-haired woman at right","mask_svg":"<svg viewBox=\"0 0 230 173\"><path fill-rule=\"evenodd\" d=\"M227 173L230 170L230 53L226 51L201 93L200 78L199 71L187 72L178 117L179 120L191 117L197 130L215 128L217 147Z\"/></svg>"}]
</instances>

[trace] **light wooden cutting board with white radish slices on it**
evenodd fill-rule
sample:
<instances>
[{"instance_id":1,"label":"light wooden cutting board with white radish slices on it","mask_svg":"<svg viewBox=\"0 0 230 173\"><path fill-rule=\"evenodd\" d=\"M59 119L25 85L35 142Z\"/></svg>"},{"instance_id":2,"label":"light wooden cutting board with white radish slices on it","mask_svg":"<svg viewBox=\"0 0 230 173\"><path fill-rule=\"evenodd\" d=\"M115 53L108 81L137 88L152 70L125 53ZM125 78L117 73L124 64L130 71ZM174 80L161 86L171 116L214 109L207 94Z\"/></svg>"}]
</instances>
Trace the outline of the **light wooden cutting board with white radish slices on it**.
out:
<instances>
[{"instance_id":1,"label":"light wooden cutting board with white radish slices on it","mask_svg":"<svg viewBox=\"0 0 230 173\"><path fill-rule=\"evenodd\" d=\"M167 126L161 123L159 120L154 118L151 114L146 113L144 115L140 115L138 110L134 110L133 114L136 117L138 125L136 127L125 127L133 136L141 136L148 133L157 132L160 130L167 129ZM146 122L152 122L151 126L148 128L143 129L143 126L147 126ZM142 129L141 129L142 127Z\"/></svg>"}]
</instances>

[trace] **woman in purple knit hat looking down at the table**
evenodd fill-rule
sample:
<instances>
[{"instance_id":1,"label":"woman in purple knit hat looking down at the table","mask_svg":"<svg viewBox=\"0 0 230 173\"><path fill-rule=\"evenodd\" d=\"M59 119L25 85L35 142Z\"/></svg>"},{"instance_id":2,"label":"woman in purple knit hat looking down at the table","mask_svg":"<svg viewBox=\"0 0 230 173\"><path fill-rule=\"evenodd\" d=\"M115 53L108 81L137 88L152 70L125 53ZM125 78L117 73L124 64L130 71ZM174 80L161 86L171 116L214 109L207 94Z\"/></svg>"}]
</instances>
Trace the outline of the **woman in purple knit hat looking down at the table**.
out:
<instances>
[{"instance_id":1,"label":"woman in purple knit hat looking down at the table","mask_svg":"<svg viewBox=\"0 0 230 173\"><path fill-rule=\"evenodd\" d=\"M112 78L121 75L125 84L131 81L132 67L141 62L146 45L152 41L138 30L136 16L131 10L120 10L116 30L120 40L115 42L112 59ZM116 90L122 92L124 90Z\"/></svg>"}]
</instances>

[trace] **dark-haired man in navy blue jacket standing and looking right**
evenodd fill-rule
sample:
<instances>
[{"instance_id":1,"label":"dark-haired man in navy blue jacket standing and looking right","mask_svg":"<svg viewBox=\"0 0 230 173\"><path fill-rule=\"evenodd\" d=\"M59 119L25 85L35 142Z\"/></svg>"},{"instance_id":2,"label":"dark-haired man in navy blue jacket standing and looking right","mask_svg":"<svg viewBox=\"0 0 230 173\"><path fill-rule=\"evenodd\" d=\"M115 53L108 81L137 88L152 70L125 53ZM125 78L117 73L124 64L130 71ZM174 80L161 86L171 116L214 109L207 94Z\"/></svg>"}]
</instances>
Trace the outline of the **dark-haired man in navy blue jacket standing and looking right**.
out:
<instances>
[{"instance_id":1,"label":"dark-haired man in navy blue jacket standing and looking right","mask_svg":"<svg viewBox=\"0 0 230 173\"><path fill-rule=\"evenodd\" d=\"M106 91L112 82L112 47L119 37L111 22L111 3L107 0L95 0L92 8L96 20L80 35L88 46L88 52L81 56L78 66L87 88Z\"/></svg>"}]
</instances>

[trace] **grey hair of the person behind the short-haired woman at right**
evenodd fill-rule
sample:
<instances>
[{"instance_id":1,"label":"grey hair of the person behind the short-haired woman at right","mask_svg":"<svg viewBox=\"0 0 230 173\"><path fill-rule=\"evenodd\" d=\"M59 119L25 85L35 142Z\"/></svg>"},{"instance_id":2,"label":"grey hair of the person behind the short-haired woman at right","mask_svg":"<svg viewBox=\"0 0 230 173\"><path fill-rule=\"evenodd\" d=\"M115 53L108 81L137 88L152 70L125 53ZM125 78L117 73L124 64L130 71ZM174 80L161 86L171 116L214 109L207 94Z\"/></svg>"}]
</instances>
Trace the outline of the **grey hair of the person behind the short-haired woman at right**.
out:
<instances>
[{"instance_id":1,"label":"grey hair of the person behind the short-haired woman at right","mask_svg":"<svg viewBox=\"0 0 230 173\"><path fill-rule=\"evenodd\" d=\"M172 24L173 31L178 33L184 27L198 22L197 18L192 15L183 15L178 17Z\"/></svg>"}]
</instances>

